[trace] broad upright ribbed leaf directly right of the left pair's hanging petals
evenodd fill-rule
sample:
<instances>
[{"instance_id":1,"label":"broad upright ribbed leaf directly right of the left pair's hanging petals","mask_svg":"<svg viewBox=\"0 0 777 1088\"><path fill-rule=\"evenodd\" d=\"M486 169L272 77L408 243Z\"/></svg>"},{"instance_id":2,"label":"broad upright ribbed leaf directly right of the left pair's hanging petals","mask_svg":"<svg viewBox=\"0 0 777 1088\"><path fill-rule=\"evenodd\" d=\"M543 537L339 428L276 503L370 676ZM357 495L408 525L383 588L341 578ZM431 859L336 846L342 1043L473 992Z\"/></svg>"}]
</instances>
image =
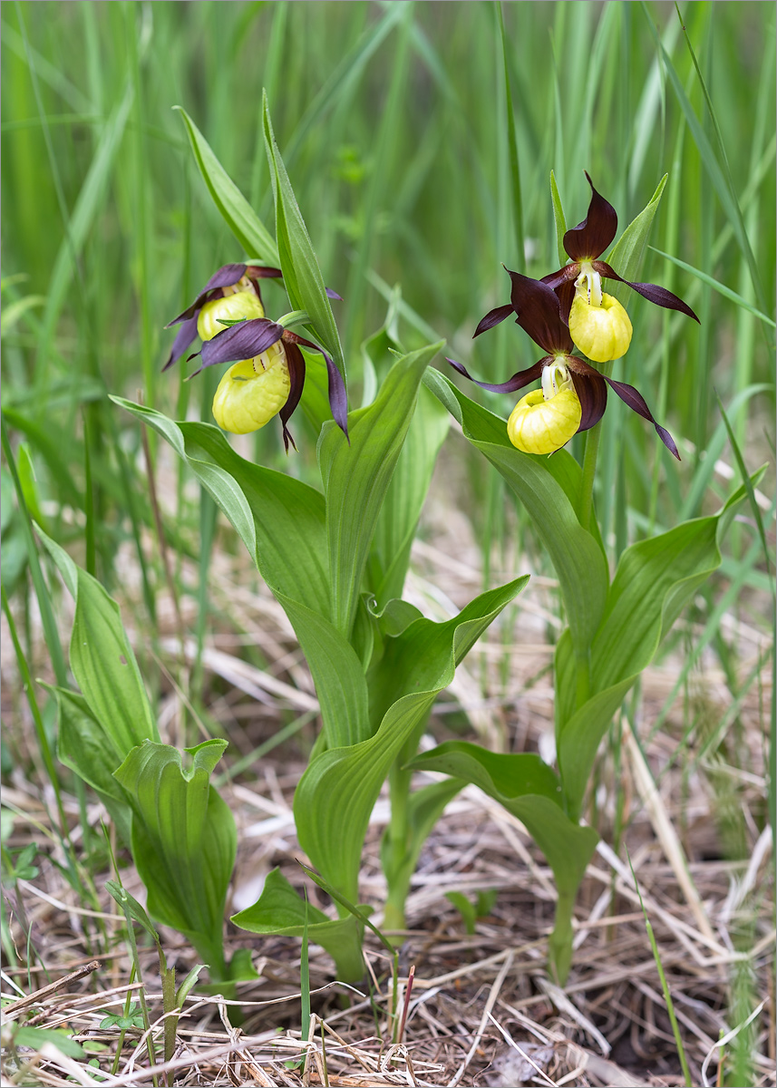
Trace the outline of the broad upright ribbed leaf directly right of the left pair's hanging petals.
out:
<instances>
[{"instance_id":1,"label":"broad upright ribbed leaf directly right of the left pair's hanging petals","mask_svg":"<svg viewBox=\"0 0 777 1088\"><path fill-rule=\"evenodd\" d=\"M403 356L375 400L348 416L350 444L324 424L319 467L326 496L332 622L346 638L381 506L405 442L427 364L441 344Z\"/></svg>"}]
</instances>

